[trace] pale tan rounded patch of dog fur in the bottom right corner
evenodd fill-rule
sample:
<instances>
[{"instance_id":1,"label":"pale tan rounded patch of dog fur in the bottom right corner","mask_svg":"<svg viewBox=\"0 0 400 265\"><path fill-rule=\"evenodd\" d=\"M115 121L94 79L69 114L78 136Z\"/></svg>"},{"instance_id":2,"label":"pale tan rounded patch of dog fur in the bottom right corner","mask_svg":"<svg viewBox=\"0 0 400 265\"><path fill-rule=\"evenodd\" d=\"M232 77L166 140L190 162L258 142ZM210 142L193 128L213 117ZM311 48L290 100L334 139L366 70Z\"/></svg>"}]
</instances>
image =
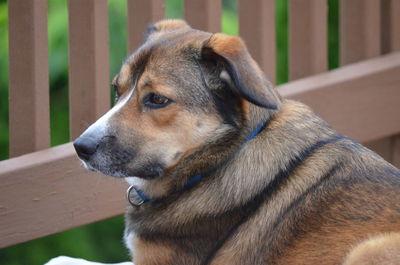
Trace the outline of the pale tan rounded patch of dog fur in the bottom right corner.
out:
<instances>
[{"instance_id":1,"label":"pale tan rounded patch of dog fur in the bottom right corner","mask_svg":"<svg viewBox=\"0 0 400 265\"><path fill-rule=\"evenodd\" d=\"M364 240L351 250L343 265L400 264L400 234L388 233Z\"/></svg>"}]
</instances>

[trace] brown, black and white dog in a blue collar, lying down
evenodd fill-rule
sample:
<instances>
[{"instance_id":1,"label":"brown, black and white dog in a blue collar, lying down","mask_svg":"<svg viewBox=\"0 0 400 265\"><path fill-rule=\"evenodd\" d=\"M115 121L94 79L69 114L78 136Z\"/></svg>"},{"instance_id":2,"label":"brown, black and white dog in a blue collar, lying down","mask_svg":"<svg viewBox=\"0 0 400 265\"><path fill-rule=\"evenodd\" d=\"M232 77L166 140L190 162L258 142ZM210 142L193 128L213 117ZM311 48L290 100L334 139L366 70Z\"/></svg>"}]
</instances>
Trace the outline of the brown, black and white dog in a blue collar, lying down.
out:
<instances>
[{"instance_id":1,"label":"brown, black and white dog in a blue collar, lying down","mask_svg":"<svg viewBox=\"0 0 400 265\"><path fill-rule=\"evenodd\" d=\"M239 37L162 20L112 86L74 146L132 185L134 264L400 264L400 171L282 98Z\"/></svg>"}]
</instances>

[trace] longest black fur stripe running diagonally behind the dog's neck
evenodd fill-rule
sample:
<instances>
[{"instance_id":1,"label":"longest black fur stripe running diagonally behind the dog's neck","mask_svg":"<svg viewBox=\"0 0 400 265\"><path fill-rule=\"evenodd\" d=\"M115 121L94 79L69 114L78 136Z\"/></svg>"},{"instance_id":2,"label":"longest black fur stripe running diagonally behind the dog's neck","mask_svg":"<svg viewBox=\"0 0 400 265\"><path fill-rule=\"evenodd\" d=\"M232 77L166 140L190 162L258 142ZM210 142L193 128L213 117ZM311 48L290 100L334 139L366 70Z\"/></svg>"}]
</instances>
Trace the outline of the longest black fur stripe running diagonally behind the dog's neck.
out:
<instances>
[{"instance_id":1,"label":"longest black fur stripe running diagonally behind the dog's neck","mask_svg":"<svg viewBox=\"0 0 400 265\"><path fill-rule=\"evenodd\" d=\"M271 195L277 191L287 180L288 177L291 175L291 173L298 167L300 166L307 158L309 158L312 154L314 154L318 149L322 148L323 146L327 144L331 144L334 142L337 142L341 139L344 139L345 137L342 135L336 135L335 137L329 138L327 140L321 140L316 142L314 145L309 147L308 149L304 150L299 156L294 157L290 162L287 170L282 170L280 171L274 178L273 180L259 193L257 194L252 201L247 203L242 207L244 211L246 211L248 214L245 215L242 220L240 220L233 228L229 230L229 232L226 234L225 237L220 240L216 244L216 246L213 248L213 250L209 253L209 255L206 257L204 262L202 264L207 265L209 264L212 259L214 258L215 254L218 252L218 250L226 243L229 241L229 239L232 238L232 236L236 233L238 228L246 223L252 216L254 216L262 203L266 201ZM333 172L332 172L333 173ZM331 174L332 174L331 173ZM327 174L326 179L329 177ZM237 209L239 210L239 209Z\"/></svg>"}]
</instances>

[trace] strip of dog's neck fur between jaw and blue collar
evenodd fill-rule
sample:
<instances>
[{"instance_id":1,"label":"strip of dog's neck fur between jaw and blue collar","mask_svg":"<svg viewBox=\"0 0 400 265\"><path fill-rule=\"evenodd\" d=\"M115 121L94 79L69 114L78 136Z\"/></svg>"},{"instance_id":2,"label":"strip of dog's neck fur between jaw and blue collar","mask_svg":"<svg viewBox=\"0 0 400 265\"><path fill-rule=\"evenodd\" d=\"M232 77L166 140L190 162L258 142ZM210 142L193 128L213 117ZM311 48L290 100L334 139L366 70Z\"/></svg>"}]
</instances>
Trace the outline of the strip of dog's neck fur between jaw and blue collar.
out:
<instances>
[{"instance_id":1,"label":"strip of dog's neck fur between jaw and blue collar","mask_svg":"<svg viewBox=\"0 0 400 265\"><path fill-rule=\"evenodd\" d=\"M214 173L234 156L252 132L257 131L257 126L269 121L279 111L279 109L269 110L253 104L248 104L246 109L246 115L241 121L241 129L226 135L221 139L221 143L215 144L212 149L205 150L205 154L194 154L194 158L183 161L180 163L180 166L175 167L172 172L168 172L162 178L154 180L144 180L137 177L127 178L127 182L131 186L136 187L136 190L140 193L137 196L136 190L133 188L130 189L130 194L133 194L132 199L135 200L135 204L142 204L142 201L148 201L150 198L166 197L171 193L185 189L187 183L197 183L199 178L195 176ZM226 139L230 140L226 141ZM224 148L221 149L221 145ZM202 159L202 156L207 156L208 159ZM210 159L210 157L213 158Z\"/></svg>"}]
</instances>

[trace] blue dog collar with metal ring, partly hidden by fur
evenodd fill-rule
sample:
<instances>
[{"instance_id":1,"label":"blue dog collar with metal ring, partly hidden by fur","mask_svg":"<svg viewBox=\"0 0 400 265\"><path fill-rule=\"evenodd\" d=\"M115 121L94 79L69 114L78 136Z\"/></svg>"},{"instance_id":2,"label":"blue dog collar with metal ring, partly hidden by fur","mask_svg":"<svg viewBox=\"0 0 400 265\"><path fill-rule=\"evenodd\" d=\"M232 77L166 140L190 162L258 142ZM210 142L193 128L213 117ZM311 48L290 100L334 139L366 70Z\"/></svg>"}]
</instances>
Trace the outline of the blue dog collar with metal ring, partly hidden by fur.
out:
<instances>
[{"instance_id":1,"label":"blue dog collar with metal ring, partly hidden by fur","mask_svg":"<svg viewBox=\"0 0 400 265\"><path fill-rule=\"evenodd\" d=\"M244 142L248 142L251 139L253 139L254 137L256 137L264 128L265 125L267 124L268 121L263 121L261 123L259 123L257 125L256 128L254 128L254 130L252 130L246 137L246 139L244 140ZM199 183L205 176L207 175L194 175L193 177L191 177L188 182L186 182L186 184L183 186L183 189L187 189L187 188L191 188L194 185L196 185L197 183ZM132 192L134 192L134 194L131 194ZM143 191L139 190L138 188L136 188L134 185L131 185L128 190L126 191L126 197L129 201L130 204L132 204L135 207L139 207L140 205L142 205L145 202L148 202L151 200L150 197L146 196Z\"/></svg>"}]
</instances>

